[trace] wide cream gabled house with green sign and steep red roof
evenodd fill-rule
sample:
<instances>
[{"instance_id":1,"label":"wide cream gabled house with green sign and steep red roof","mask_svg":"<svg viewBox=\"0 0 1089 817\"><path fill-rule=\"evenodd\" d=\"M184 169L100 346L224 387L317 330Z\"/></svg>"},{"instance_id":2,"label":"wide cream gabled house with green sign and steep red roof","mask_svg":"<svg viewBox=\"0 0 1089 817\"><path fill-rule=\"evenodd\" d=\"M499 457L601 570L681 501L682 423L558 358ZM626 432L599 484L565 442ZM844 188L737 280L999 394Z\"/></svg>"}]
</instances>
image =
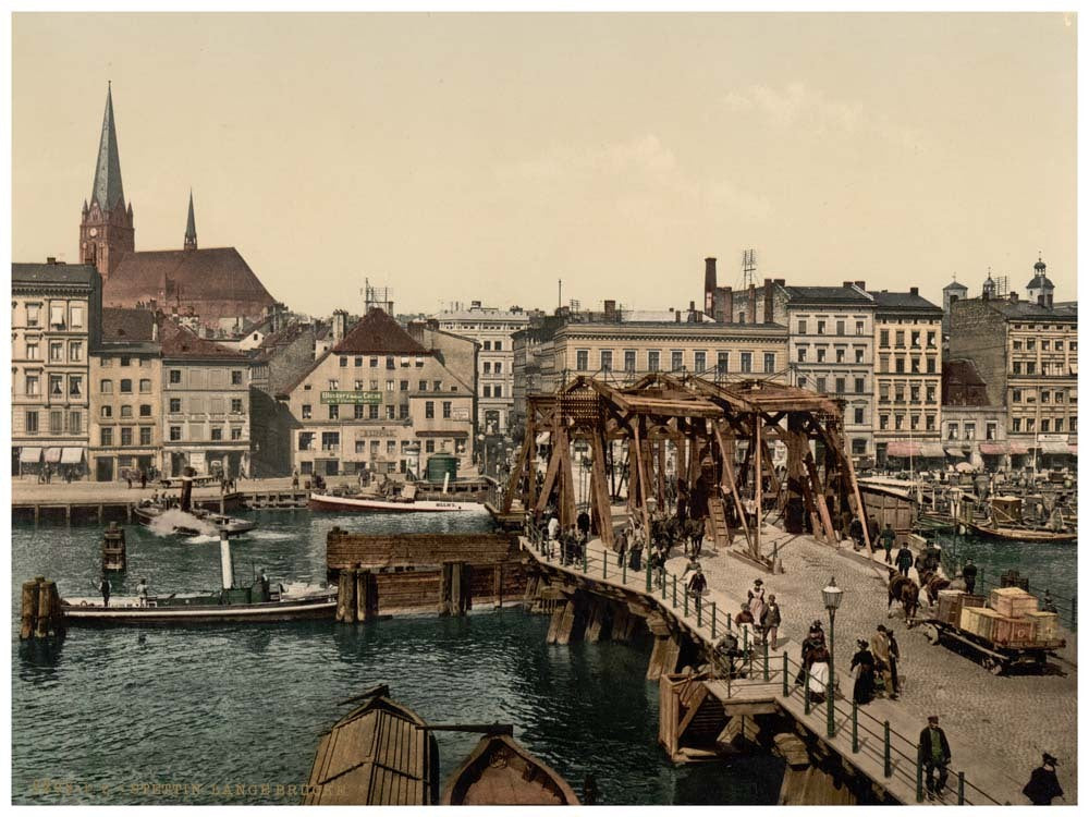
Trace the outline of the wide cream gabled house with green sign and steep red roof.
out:
<instances>
[{"instance_id":1,"label":"wide cream gabled house with green sign and steep red roof","mask_svg":"<svg viewBox=\"0 0 1089 817\"><path fill-rule=\"evenodd\" d=\"M371 309L277 395L294 423L292 467L304 475L418 476L427 456L440 452L468 465L473 386L441 357ZM462 365L472 373L472 359Z\"/></svg>"}]
</instances>

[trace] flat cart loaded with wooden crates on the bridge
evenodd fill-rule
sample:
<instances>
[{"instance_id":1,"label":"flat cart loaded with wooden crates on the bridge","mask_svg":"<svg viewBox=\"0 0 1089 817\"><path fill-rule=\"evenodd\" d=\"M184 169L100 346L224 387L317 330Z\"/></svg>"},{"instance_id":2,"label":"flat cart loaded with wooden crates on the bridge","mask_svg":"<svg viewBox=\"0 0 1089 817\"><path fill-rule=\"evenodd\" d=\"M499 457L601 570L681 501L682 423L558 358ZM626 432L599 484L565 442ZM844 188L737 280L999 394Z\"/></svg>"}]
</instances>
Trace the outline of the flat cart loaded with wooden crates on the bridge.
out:
<instances>
[{"instance_id":1,"label":"flat cart loaded with wooden crates on the bridge","mask_svg":"<svg viewBox=\"0 0 1089 817\"><path fill-rule=\"evenodd\" d=\"M1054 650L1066 646L1052 615L1033 611L1002 615L984 607L982 596L942 590L937 617L921 624L931 644L970 653L992 674L1001 675L1012 667L1042 667Z\"/></svg>"}]
</instances>

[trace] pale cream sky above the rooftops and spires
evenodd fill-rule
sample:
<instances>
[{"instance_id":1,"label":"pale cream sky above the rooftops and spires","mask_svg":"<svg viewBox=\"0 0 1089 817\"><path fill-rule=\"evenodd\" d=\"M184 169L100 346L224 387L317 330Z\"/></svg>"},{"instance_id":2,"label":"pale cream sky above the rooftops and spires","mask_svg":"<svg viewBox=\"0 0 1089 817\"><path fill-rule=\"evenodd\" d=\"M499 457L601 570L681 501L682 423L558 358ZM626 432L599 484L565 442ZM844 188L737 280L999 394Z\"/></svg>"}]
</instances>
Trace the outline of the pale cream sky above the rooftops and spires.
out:
<instances>
[{"instance_id":1,"label":"pale cream sky above the rooftops and spires","mask_svg":"<svg viewBox=\"0 0 1089 817\"><path fill-rule=\"evenodd\" d=\"M1076 297L1061 14L14 15L13 259L77 260L107 81L137 249L236 246L301 312L665 308L1037 253Z\"/></svg>"}]
</instances>

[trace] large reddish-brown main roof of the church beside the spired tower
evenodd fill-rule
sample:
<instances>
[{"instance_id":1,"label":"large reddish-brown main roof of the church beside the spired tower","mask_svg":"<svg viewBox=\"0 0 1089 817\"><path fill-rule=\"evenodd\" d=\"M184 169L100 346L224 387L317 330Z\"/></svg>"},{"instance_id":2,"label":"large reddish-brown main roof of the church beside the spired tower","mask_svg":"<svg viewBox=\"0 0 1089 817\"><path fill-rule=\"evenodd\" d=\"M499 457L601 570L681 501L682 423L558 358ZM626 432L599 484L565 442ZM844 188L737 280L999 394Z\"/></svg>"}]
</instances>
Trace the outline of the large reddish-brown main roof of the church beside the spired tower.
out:
<instances>
[{"instance_id":1,"label":"large reddish-brown main roof of the church beside the spired tower","mask_svg":"<svg viewBox=\"0 0 1089 817\"><path fill-rule=\"evenodd\" d=\"M102 303L193 306L204 321L257 317L274 298L234 247L126 253L106 279Z\"/></svg>"}]
</instances>

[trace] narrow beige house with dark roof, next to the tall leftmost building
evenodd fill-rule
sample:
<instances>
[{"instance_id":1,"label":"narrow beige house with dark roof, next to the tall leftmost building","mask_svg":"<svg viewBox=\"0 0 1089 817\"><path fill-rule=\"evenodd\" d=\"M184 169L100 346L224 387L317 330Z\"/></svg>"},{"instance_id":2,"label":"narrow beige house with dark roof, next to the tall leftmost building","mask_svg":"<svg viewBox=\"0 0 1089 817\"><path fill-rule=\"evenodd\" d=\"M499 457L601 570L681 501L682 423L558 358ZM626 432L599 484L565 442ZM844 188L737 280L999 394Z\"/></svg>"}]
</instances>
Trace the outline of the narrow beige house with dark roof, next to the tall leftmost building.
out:
<instances>
[{"instance_id":1,"label":"narrow beige house with dark roof, next to the tall leftmost building","mask_svg":"<svg viewBox=\"0 0 1089 817\"><path fill-rule=\"evenodd\" d=\"M162 352L154 313L102 310L90 353L91 479L149 479L162 467Z\"/></svg>"}]
</instances>

